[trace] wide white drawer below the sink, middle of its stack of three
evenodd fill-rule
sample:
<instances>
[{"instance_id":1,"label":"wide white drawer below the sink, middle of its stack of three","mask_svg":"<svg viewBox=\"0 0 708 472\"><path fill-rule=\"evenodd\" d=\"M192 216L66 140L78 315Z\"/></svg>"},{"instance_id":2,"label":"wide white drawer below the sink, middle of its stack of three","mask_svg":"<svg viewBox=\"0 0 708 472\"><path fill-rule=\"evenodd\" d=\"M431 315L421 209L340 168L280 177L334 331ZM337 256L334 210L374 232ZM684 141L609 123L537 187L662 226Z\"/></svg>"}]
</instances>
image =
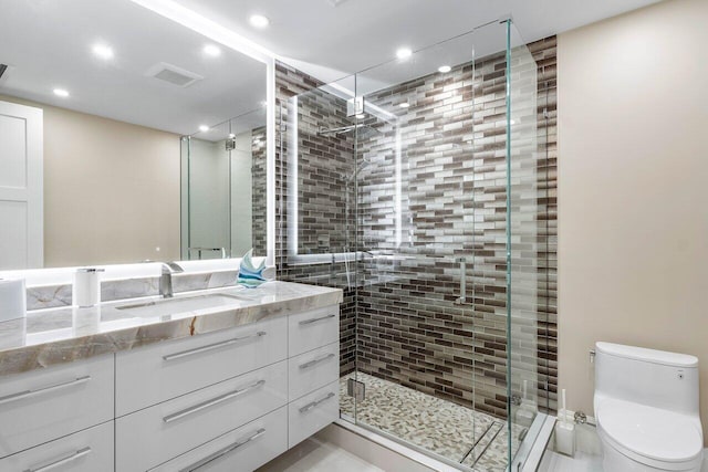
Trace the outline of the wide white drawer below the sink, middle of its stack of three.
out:
<instances>
[{"instance_id":1,"label":"wide white drawer below the sink, middle of its stack of three","mask_svg":"<svg viewBox=\"0 0 708 472\"><path fill-rule=\"evenodd\" d=\"M116 470L156 466L282 407L287 399L283 360L118 418Z\"/></svg>"}]
</instances>

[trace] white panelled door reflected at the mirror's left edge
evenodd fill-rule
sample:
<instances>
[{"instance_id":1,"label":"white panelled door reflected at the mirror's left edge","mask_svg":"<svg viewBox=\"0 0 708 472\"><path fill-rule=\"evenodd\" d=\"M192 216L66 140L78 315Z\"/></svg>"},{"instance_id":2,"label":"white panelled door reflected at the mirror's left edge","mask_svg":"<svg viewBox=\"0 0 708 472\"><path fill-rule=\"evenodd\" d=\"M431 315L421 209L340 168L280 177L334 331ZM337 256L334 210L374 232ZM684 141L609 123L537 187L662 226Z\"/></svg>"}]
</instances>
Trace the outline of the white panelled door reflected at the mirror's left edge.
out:
<instances>
[{"instance_id":1,"label":"white panelled door reflected at the mirror's left edge","mask_svg":"<svg viewBox=\"0 0 708 472\"><path fill-rule=\"evenodd\" d=\"M0 102L0 270L44 265L43 113Z\"/></svg>"}]
</instances>

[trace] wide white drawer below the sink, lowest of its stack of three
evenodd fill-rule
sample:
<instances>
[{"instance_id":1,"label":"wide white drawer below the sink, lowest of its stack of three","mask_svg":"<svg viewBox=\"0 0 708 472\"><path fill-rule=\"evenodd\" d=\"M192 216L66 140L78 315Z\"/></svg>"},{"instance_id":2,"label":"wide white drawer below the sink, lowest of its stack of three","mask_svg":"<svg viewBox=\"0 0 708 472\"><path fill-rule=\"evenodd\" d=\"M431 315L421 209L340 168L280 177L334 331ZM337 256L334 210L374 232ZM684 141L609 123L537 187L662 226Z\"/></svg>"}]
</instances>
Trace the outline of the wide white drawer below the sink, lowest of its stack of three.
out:
<instances>
[{"instance_id":1,"label":"wide white drawer below the sink, lowest of its stack of three","mask_svg":"<svg viewBox=\"0 0 708 472\"><path fill-rule=\"evenodd\" d=\"M282 407L148 472L246 472L258 469L285 450L288 407Z\"/></svg>"}]
</instances>

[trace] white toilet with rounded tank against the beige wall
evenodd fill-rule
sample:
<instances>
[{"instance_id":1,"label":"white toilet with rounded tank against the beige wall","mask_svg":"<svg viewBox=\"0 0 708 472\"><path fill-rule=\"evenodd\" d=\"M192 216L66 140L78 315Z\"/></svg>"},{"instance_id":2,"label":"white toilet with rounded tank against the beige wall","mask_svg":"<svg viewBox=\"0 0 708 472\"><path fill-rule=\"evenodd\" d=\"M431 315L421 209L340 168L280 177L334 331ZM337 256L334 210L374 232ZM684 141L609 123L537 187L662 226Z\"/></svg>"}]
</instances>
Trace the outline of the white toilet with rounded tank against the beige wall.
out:
<instances>
[{"instance_id":1,"label":"white toilet with rounded tank against the beige wall","mask_svg":"<svg viewBox=\"0 0 708 472\"><path fill-rule=\"evenodd\" d=\"M594 408L604 472L700 471L696 357L596 343Z\"/></svg>"}]
</instances>

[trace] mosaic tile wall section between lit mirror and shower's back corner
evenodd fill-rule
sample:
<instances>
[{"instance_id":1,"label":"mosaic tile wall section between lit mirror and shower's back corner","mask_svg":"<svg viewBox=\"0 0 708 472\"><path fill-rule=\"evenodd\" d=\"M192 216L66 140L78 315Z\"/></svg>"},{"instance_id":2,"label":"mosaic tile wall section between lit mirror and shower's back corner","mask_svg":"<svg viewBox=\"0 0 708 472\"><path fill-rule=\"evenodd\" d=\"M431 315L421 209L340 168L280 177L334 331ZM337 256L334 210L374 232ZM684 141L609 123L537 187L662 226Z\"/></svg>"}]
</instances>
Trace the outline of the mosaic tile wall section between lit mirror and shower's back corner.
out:
<instances>
[{"instance_id":1,"label":"mosaic tile wall section between lit mirror and shower's back corner","mask_svg":"<svg viewBox=\"0 0 708 472\"><path fill-rule=\"evenodd\" d=\"M275 263L280 280L302 282L316 285L336 286L344 291L344 302L340 312L340 363L342 375L354 369L355 352L355 287L351 275L354 266L347 264L319 263L305 264L296 261L289 251L292 234L296 233L298 243L293 243L296 252L303 255L341 252L354 241L353 210L346 208L346 186L344 176L354 171L353 136L340 138L319 136L320 127L336 127L343 124L346 104L327 94L317 92L324 85L316 78L303 74L283 64L275 64L275 176L277 176L277 225L279 238L275 242ZM299 104L299 159L298 159L298 204L295 220L290 206L292 201L289 174L292 172L289 147L293 136L292 114L295 113L291 98L295 95L310 94ZM304 104L304 106L303 106ZM300 133L301 132L301 133ZM355 195L350 190L351 201ZM305 192L308 195L305 195ZM304 199L303 199L304 198ZM333 202L333 203L331 203ZM296 222L295 222L296 221ZM315 224L316 223L316 224ZM296 232L291 233L291 228ZM315 227L319 231L314 231ZM293 230L294 231L294 230Z\"/></svg>"}]
</instances>

